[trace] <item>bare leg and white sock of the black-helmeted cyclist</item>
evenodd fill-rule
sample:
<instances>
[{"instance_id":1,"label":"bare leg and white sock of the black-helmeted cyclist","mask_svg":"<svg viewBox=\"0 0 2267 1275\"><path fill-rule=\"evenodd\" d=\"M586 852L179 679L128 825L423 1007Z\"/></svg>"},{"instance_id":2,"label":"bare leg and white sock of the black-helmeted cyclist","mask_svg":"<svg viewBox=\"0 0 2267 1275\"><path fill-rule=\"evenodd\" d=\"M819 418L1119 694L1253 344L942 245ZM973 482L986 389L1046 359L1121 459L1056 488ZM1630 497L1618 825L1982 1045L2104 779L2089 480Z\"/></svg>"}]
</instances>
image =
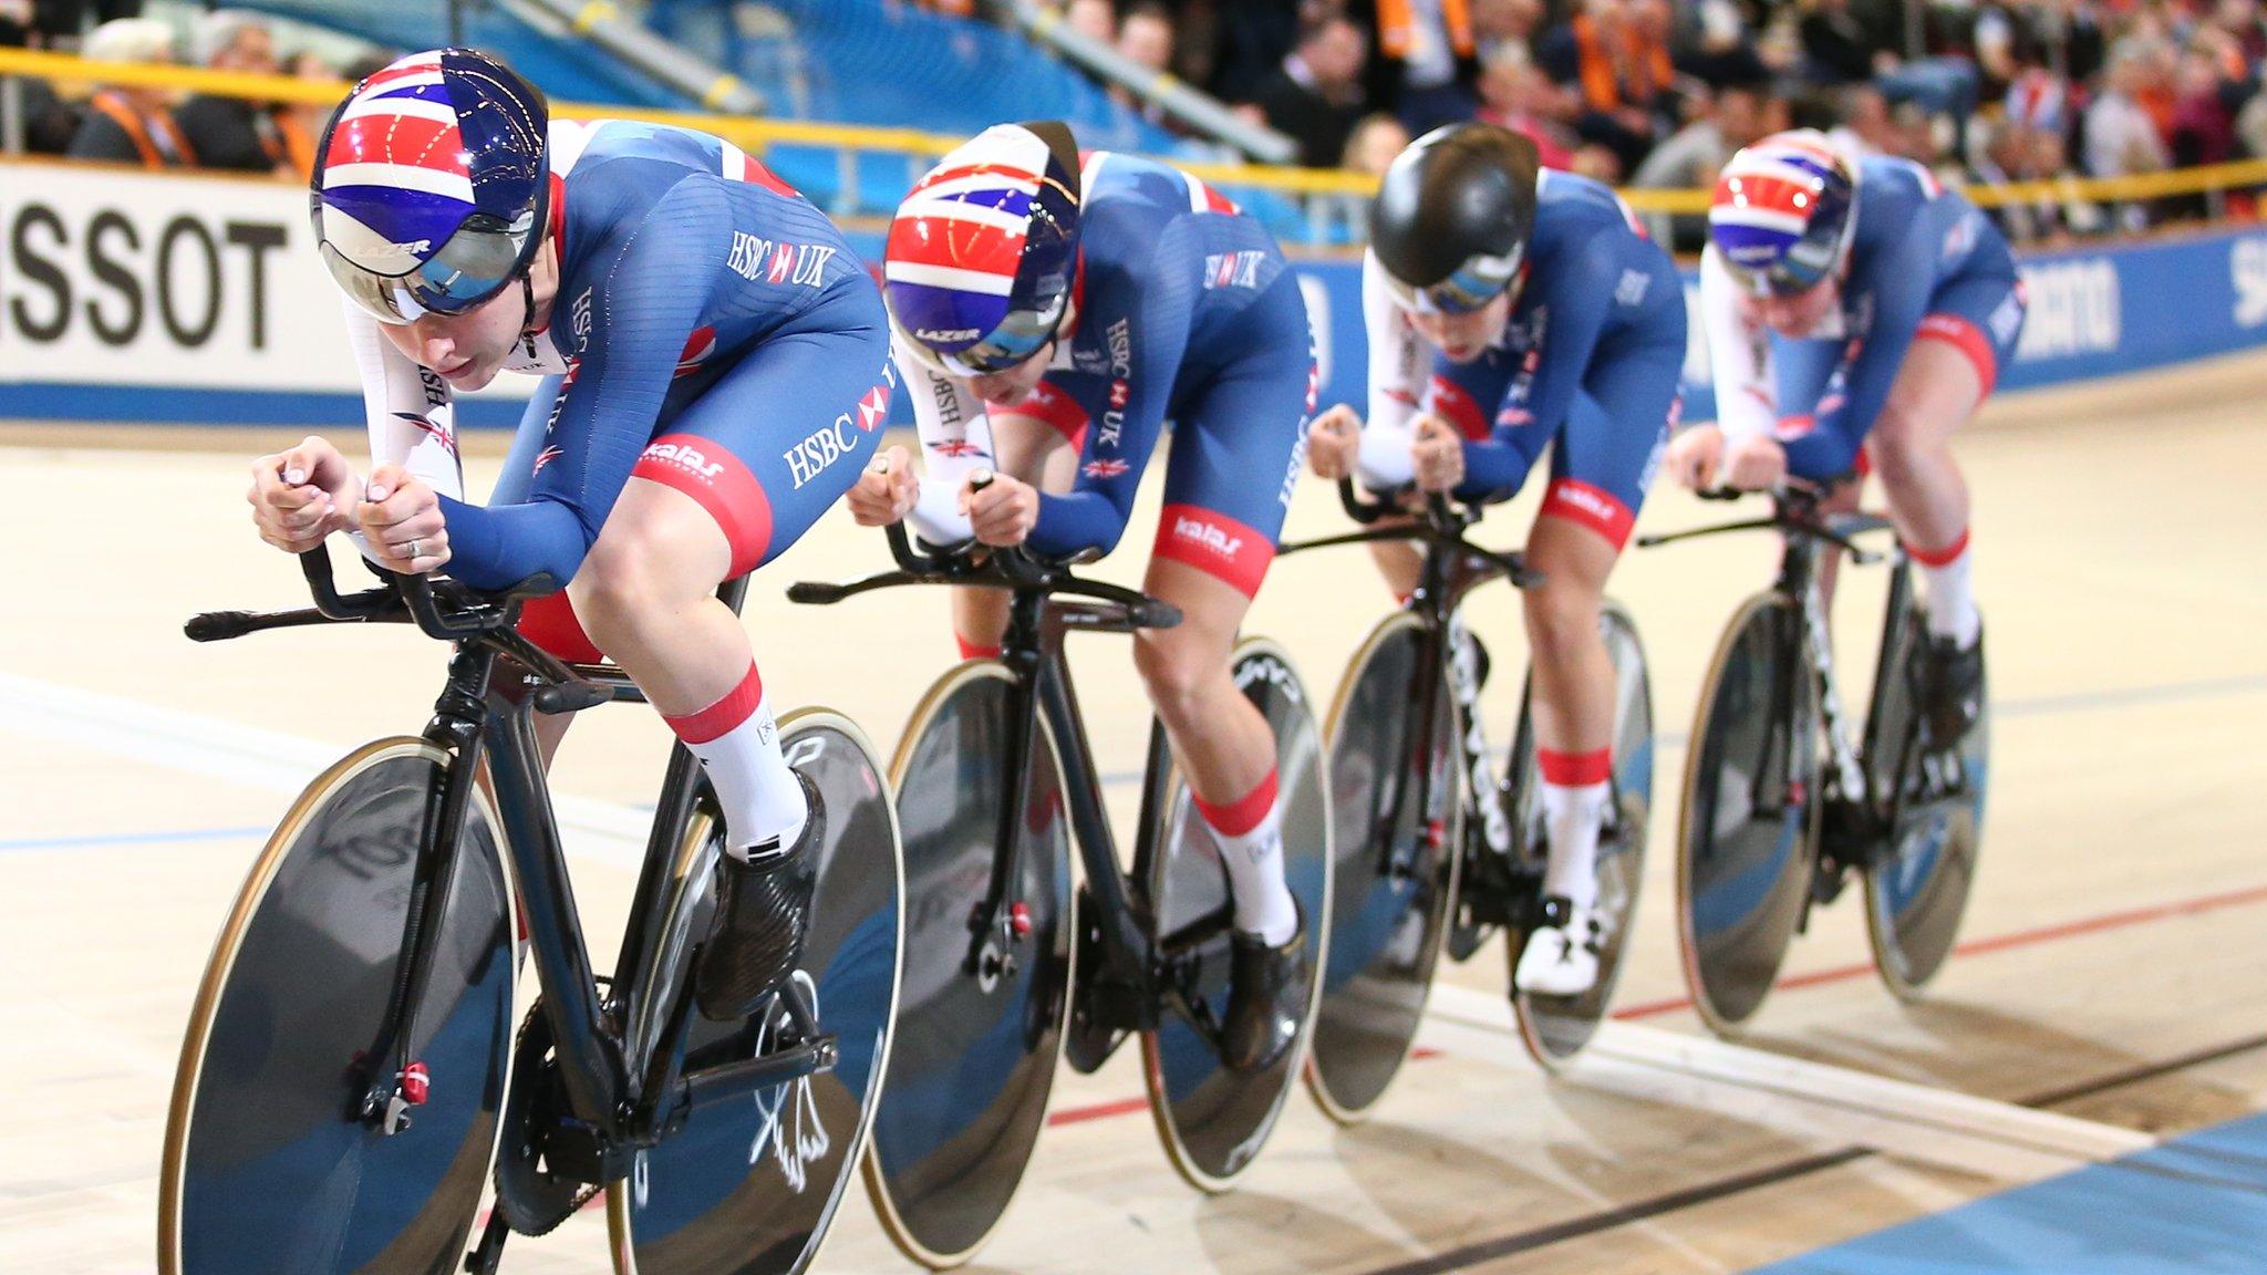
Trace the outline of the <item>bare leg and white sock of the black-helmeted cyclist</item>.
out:
<instances>
[{"instance_id":1,"label":"bare leg and white sock of the black-helmeted cyclist","mask_svg":"<svg viewBox=\"0 0 2267 1275\"><path fill-rule=\"evenodd\" d=\"M1521 603L1551 844L1544 894L1578 907L1594 905L1598 892L1598 824L1614 744L1614 662L1598 633L1598 613L1616 558L1612 542L1564 517L1537 517L1528 538L1528 565L1542 574Z\"/></svg>"}]
</instances>

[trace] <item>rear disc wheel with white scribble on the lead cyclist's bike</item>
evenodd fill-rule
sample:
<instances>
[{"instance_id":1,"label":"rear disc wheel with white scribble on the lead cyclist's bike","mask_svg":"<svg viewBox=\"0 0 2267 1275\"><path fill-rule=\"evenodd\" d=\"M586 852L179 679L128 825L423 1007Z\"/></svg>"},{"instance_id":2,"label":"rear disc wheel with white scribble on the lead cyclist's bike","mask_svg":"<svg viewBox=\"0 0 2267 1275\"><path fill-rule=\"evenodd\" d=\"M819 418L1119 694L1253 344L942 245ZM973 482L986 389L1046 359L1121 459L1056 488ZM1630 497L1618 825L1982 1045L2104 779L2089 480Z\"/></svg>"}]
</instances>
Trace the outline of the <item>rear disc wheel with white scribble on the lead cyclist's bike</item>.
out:
<instances>
[{"instance_id":1,"label":"rear disc wheel with white scribble on the lead cyclist's bike","mask_svg":"<svg viewBox=\"0 0 2267 1275\"><path fill-rule=\"evenodd\" d=\"M905 942L898 817L873 746L846 717L798 710L780 721L787 765L827 808L818 846L803 971L818 1025L832 1032L832 1071L696 1107L660 1146L639 1150L608 1184L608 1230L621 1275L793 1275L818 1255L827 1223L866 1150L889 1066ZM707 932L716 824L696 814L678 853L678 885L662 926L655 978L642 1003L669 1005L682 948ZM685 1071L725 1066L791 1046L778 998L739 1023L691 1016Z\"/></svg>"}]
</instances>

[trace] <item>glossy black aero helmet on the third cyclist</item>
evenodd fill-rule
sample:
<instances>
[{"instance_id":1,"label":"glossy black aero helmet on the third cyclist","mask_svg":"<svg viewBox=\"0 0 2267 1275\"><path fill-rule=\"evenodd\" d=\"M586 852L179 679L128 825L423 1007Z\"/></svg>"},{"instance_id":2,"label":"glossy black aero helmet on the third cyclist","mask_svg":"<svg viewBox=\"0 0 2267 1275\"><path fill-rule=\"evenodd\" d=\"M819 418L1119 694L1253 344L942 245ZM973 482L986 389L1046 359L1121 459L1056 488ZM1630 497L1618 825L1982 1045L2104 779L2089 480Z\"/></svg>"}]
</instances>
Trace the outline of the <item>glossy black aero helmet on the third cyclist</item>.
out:
<instances>
[{"instance_id":1,"label":"glossy black aero helmet on the third cyclist","mask_svg":"<svg viewBox=\"0 0 2267 1275\"><path fill-rule=\"evenodd\" d=\"M1406 309L1471 313L1519 279L1535 234L1535 143L1449 125L1394 157L1369 204L1369 250Z\"/></svg>"}]
</instances>

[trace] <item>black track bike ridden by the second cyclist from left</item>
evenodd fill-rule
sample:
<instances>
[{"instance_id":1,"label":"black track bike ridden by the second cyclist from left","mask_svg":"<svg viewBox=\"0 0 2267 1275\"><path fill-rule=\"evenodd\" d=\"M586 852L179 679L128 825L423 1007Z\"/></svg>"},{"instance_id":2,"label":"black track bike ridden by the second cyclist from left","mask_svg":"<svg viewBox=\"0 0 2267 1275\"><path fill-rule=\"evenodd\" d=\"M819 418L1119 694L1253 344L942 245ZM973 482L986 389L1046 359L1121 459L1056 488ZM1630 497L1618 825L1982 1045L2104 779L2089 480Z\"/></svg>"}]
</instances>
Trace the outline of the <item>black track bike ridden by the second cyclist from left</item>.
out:
<instances>
[{"instance_id":1,"label":"black track bike ridden by the second cyclist from left","mask_svg":"<svg viewBox=\"0 0 2267 1275\"><path fill-rule=\"evenodd\" d=\"M1011 603L1000 658L945 672L891 762L909 910L902 1046L866 1164L884 1230L925 1266L968 1261L1025 1177L1056 1057L1090 1073L1131 1035L1174 1168L1204 1191L1226 1189L1267 1141L1306 1032L1256 1075L1222 1064L1226 871L1156 724L1134 867L1120 867L1063 658L1068 633L1168 628L1179 610L1025 549L925 551L905 526L889 526L889 544L895 572L798 583L789 597L834 603L902 585L988 585L1009 590ZM1331 917L1322 735L1281 647L1247 638L1233 672L1274 733L1283 871L1306 917L1313 971ZM1072 883L1072 835L1084 885Z\"/></svg>"}]
</instances>

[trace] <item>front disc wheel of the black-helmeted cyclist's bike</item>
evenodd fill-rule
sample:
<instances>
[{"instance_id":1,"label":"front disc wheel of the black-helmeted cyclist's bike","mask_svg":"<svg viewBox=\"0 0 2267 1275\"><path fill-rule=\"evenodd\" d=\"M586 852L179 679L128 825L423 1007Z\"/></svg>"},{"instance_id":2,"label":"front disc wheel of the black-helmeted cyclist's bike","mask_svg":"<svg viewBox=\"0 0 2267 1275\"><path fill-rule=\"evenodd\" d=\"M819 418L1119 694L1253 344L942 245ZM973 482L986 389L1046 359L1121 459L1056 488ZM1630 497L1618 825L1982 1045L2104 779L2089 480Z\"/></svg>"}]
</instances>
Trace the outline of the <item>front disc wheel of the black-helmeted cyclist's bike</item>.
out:
<instances>
[{"instance_id":1,"label":"front disc wheel of the black-helmeted cyclist's bike","mask_svg":"<svg viewBox=\"0 0 2267 1275\"><path fill-rule=\"evenodd\" d=\"M1331 706L1331 951L1306 1082L1342 1125L1401 1071L1455 898L1458 726L1446 681L1417 681L1424 642L1415 615L1381 619ZM1426 694L1433 731L1419 740Z\"/></svg>"}]
</instances>

